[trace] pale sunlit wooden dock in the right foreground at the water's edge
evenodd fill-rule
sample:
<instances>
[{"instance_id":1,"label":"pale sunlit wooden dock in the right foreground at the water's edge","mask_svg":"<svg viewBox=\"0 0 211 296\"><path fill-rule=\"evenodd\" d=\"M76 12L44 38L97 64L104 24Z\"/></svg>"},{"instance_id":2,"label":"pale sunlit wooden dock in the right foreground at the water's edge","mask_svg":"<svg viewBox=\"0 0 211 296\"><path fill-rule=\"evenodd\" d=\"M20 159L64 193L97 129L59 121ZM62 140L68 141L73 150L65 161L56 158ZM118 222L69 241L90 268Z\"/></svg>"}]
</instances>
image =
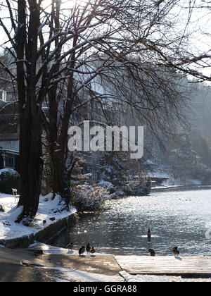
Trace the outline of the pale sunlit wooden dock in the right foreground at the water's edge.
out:
<instances>
[{"instance_id":1,"label":"pale sunlit wooden dock in the right foreground at the water's edge","mask_svg":"<svg viewBox=\"0 0 211 296\"><path fill-rule=\"evenodd\" d=\"M115 259L130 274L211 274L211 256L115 256Z\"/></svg>"}]
</instances>

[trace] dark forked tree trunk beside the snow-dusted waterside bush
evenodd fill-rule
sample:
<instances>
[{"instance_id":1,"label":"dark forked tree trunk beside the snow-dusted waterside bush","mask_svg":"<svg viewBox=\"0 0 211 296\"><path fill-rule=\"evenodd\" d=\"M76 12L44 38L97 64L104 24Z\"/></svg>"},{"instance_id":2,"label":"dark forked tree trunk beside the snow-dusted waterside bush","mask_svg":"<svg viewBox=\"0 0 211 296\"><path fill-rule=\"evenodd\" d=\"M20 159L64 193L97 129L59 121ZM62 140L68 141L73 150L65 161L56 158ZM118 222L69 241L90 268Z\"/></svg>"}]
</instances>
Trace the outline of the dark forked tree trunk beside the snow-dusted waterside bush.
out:
<instances>
[{"instance_id":1,"label":"dark forked tree trunk beside the snow-dusted waterside bush","mask_svg":"<svg viewBox=\"0 0 211 296\"><path fill-rule=\"evenodd\" d=\"M73 58L74 61L74 58ZM72 63L72 68L74 63ZM72 113L72 104L75 98L73 73L68 80L68 100L63 111L63 118L58 124L58 99L56 88L49 92L49 121L44 121L47 142L53 168L52 190L53 195L60 195L68 206L71 197L70 173L65 167L68 154L68 128Z\"/></svg>"}]
</instances>

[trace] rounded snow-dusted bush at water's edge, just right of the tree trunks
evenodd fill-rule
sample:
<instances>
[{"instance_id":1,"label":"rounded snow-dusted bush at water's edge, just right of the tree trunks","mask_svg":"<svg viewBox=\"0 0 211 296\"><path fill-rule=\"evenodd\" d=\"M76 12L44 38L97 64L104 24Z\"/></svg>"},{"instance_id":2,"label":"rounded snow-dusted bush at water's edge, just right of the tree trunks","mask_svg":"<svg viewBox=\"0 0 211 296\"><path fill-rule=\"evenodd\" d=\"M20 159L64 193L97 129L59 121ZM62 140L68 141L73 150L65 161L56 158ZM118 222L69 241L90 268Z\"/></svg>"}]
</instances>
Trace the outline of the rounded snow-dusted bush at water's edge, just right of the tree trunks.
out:
<instances>
[{"instance_id":1,"label":"rounded snow-dusted bush at water's edge, just right of the tree trunks","mask_svg":"<svg viewBox=\"0 0 211 296\"><path fill-rule=\"evenodd\" d=\"M72 186L73 205L78 211L96 211L112 198L110 187L99 185Z\"/></svg>"}]
</instances>

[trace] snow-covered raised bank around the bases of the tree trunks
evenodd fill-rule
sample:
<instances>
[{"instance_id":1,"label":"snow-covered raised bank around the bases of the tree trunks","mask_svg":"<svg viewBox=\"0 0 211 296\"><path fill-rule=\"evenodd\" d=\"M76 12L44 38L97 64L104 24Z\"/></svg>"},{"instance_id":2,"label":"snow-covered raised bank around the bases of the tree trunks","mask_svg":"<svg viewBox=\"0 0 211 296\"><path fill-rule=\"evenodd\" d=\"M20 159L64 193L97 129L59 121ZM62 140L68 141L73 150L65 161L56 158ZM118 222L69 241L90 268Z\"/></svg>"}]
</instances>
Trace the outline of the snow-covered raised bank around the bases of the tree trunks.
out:
<instances>
[{"instance_id":1,"label":"snow-covered raised bank around the bases of the tree trunks","mask_svg":"<svg viewBox=\"0 0 211 296\"><path fill-rule=\"evenodd\" d=\"M15 223L15 219L21 213L22 208L17 208L17 199L13 195L6 195L0 193L0 204L4 209L4 212L0 211L0 240L20 238L23 235L30 235L37 233L39 230L51 223L55 223L61 218L65 218L70 214L76 212L75 208L70 211L60 211L63 208L63 204L59 204L60 197L56 196L55 199L51 199L51 195L40 197L39 209L37 215L34 218L32 227L23 226L20 223ZM55 218L51 221L50 218ZM44 223L46 221L46 223Z\"/></svg>"}]
</instances>

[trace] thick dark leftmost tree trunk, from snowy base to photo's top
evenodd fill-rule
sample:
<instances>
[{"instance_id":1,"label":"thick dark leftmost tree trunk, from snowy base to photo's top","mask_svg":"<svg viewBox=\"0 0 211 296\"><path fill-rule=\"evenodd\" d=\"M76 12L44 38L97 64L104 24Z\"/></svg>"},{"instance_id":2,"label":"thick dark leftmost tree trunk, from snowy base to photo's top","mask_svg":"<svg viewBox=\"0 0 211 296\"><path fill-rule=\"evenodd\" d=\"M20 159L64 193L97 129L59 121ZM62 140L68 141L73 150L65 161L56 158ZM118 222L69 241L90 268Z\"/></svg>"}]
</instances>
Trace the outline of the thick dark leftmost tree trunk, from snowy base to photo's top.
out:
<instances>
[{"instance_id":1,"label":"thick dark leftmost tree trunk, from snowy base to photo's top","mask_svg":"<svg viewBox=\"0 0 211 296\"><path fill-rule=\"evenodd\" d=\"M37 103L37 47L39 6L29 1L30 17L27 32L27 3L18 0L18 30L15 35L17 53L17 86L20 115L20 200L22 213L16 222L29 225L37 214L41 190L41 102ZM27 61L27 63L25 63Z\"/></svg>"}]
</instances>

